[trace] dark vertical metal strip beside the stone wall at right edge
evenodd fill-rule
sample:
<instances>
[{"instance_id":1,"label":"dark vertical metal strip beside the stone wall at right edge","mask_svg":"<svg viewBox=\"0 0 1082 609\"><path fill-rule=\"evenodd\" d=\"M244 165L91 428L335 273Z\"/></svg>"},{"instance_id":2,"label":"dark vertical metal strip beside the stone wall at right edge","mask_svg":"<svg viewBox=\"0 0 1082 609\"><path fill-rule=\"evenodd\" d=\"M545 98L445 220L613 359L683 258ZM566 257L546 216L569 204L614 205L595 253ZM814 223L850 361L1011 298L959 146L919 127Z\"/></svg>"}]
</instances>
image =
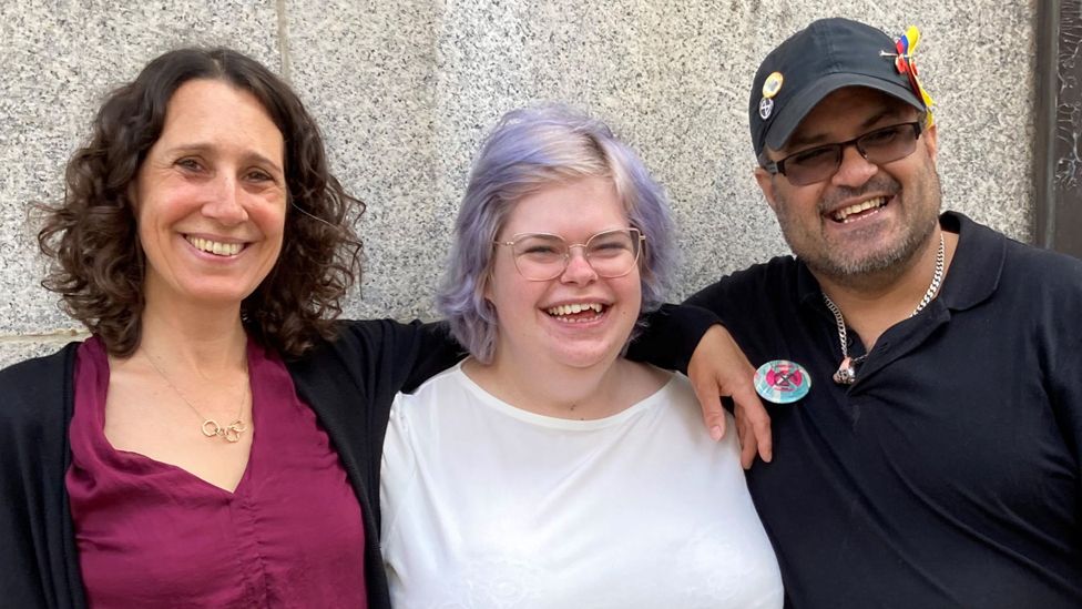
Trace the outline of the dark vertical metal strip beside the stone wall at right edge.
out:
<instances>
[{"instance_id":1,"label":"dark vertical metal strip beside the stone wall at right edge","mask_svg":"<svg viewBox=\"0 0 1082 609\"><path fill-rule=\"evenodd\" d=\"M1082 0L1038 0L1033 241L1082 257Z\"/></svg>"}]
</instances>

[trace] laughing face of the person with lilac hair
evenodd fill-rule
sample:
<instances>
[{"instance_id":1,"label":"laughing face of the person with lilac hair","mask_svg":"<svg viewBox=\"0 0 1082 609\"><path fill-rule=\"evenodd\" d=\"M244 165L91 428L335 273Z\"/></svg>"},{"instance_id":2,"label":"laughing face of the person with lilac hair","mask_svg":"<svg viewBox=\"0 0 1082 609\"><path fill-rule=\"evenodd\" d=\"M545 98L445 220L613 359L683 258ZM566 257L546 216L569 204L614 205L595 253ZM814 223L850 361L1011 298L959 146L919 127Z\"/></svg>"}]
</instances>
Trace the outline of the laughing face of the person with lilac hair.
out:
<instances>
[{"instance_id":1,"label":"laughing face of the person with lilac hair","mask_svg":"<svg viewBox=\"0 0 1082 609\"><path fill-rule=\"evenodd\" d=\"M630 227L611 179L585 177L553 184L513 204L497 240L521 233L550 233L568 243ZM647 244L649 246L649 244ZM497 311L493 363L530 369L541 363L585 368L609 366L620 355L639 317L639 267L614 278L599 276L571 250L564 272L549 281L529 281L514 266L511 248L497 246L484 296Z\"/></svg>"}]
</instances>

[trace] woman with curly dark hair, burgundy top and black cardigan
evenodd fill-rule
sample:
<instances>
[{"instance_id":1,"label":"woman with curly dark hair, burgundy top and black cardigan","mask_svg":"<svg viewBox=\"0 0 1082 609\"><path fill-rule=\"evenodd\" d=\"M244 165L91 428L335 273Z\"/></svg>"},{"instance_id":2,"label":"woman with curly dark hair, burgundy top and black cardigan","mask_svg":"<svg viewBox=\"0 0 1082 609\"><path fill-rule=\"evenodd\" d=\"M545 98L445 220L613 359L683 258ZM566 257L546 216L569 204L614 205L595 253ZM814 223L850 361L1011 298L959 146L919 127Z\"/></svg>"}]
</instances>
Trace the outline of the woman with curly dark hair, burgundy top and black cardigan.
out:
<instances>
[{"instance_id":1,"label":"woman with curly dark hair, burgundy top and black cardigan","mask_svg":"<svg viewBox=\"0 0 1082 609\"><path fill-rule=\"evenodd\" d=\"M443 326L334 321L361 205L297 97L235 51L165 53L67 185L43 285L92 336L0 371L2 602L387 607L388 412L461 353ZM681 317L650 333L696 342L708 319ZM739 357L713 402L752 390Z\"/></svg>"}]
</instances>

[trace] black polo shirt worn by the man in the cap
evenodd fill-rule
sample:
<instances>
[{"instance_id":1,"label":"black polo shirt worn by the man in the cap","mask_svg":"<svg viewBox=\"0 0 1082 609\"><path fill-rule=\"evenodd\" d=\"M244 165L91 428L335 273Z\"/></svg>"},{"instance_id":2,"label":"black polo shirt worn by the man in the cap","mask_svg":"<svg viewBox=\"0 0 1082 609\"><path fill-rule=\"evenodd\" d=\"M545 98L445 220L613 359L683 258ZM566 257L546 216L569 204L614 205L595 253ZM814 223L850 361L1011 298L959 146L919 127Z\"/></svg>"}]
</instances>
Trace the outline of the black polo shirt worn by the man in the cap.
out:
<instances>
[{"instance_id":1,"label":"black polo shirt worn by the man in the cap","mask_svg":"<svg viewBox=\"0 0 1082 609\"><path fill-rule=\"evenodd\" d=\"M687 301L754 366L810 375L803 399L767 405L774 461L747 477L793 607L1082 607L1082 262L961 214L940 223L959 244L939 296L849 387L799 261Z\"/></svg>"}]
</instances>

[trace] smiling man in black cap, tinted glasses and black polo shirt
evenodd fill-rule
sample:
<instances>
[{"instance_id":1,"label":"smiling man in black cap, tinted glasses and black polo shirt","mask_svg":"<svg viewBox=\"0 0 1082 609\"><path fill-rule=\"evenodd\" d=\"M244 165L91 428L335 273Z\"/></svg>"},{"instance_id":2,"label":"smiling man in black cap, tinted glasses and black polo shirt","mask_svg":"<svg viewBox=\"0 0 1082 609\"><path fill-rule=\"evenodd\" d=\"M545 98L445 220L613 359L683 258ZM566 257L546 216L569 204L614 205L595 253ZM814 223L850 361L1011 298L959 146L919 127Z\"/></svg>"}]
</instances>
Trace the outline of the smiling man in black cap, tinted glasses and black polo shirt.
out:
<instances>
[{"instance_id":1,"label":"smiling man in black cap, tinted glasses and black polo shirt","mask_svg":"<svg viewBox=\"0 0 1082 609\"><path fill-rule=\"evenodd\" d=\"M796 257L690 298L774 426L748 486L794 607L1082 607L1082 262L940 213L895 40L843 19L752 88L755 177Z\"/></svg>"}]
</instances>

